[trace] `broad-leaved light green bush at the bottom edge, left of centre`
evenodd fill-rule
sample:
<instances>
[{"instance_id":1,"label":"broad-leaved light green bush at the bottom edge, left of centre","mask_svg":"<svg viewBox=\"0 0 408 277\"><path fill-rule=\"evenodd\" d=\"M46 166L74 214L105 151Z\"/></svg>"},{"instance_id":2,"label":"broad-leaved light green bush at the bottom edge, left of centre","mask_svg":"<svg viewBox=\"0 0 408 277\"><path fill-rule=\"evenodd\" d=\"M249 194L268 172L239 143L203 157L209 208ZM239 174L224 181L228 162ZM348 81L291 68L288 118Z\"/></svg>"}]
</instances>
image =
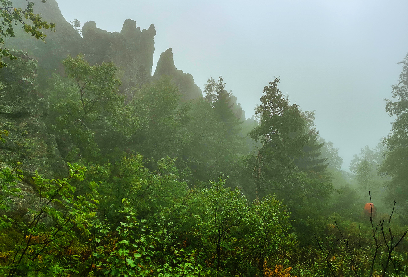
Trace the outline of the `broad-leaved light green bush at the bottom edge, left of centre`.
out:
<instances>
[{"instance_id":1,"label":"broad-leaved light green bush at the bottom edge, left of centre","mask_svg":"<svg viewBox=\"0 0 408 277\"><path fill-rule=\"evenodd\" d=\"M130 204L130 201L127 201ZM93 256L98 262L96 268L106 276L205 276L202 266L197 264L195 251L185 253L183 248L172 246L165 256L162 231L154 231L147 220L139 220L128 206L120 213L125 215L116 232L113 251L105 253L104 246L98 246ZM107 256L106 256L107 255Z\"/></svg>"}]
</instances>

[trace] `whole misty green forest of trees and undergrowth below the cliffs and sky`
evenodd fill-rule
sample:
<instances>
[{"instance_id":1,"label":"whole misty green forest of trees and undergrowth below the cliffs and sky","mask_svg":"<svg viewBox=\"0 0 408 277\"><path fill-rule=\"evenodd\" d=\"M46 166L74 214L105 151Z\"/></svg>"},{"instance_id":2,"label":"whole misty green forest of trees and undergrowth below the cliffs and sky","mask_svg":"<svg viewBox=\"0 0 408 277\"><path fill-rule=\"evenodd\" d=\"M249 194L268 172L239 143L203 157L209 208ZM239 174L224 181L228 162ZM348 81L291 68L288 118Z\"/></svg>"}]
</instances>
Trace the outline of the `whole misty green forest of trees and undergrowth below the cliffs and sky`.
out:
<instances>
[{"instance_id":1,"label":"whole misty green forest of trees and undergrowth below the cliffs and sky","mask_svg":"<svg viewBox=\"0 0 408 277\"><path fill-rule=\"evenodd\" d=\"M348 172L279 78L242 120L222 76L191 99L85 51L51 70L23 46L58 23L0 1L0 276L408 276L408 55Z\"/></svg>"}]
</instances>

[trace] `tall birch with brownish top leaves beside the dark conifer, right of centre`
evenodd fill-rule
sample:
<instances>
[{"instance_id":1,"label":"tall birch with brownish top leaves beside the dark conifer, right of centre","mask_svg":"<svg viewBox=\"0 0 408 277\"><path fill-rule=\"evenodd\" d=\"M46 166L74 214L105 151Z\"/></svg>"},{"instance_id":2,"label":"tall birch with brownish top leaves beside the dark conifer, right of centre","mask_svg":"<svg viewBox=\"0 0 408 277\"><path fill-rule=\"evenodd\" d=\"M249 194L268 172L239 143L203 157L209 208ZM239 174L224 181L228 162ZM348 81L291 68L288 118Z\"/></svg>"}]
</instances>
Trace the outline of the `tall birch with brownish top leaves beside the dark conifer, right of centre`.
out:
<instances>
[{"instance_id":1,"label":"tall birch with brownish top leaves beside the dark conifer, right of centre","mask_svg":"<svg viewBox=\"0 0 408 277\"><path fill-rule=\"evenodd\" d=\"M304 130L304 119L297 105L289 105L289 100L278 89L279 79L269 82L264 88L261 105L256 114L260 116L260 125L250 133L254 141L260 141L257 156L251 167L258 193L265 189L273 189L276 182L284 183L284 178L296 170L294 157L302 155L306 138L301 134ZM275 176L274 179L267 176Z\"/></svg>"}]
</instances>

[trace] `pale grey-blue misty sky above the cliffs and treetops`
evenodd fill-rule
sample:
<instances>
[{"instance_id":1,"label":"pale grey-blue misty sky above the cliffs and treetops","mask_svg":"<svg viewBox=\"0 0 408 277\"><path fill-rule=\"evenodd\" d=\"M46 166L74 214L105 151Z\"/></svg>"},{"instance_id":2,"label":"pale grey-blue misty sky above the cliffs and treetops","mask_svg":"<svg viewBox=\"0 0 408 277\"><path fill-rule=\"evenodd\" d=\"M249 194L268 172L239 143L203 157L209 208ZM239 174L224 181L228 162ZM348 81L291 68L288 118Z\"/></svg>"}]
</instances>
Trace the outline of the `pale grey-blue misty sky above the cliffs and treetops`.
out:
<instances>
[{"instance_id":1,"label":"pale grey-blue misty sky above the cliffs and treetops","mask_svg":"<svg viewBox=\"0 0 408 277\"><path fill-rule=\"evenodd\" d=\"M57 0L67 21L120 32L126 19L156 29L153 72L173 48L175 65L204 88L222 75L251 117L275 77L291 103L315 111L320 136L348 169L353 154L390 131L384 110L408 52L408 1Z\"/></svg>"}]
</instances>

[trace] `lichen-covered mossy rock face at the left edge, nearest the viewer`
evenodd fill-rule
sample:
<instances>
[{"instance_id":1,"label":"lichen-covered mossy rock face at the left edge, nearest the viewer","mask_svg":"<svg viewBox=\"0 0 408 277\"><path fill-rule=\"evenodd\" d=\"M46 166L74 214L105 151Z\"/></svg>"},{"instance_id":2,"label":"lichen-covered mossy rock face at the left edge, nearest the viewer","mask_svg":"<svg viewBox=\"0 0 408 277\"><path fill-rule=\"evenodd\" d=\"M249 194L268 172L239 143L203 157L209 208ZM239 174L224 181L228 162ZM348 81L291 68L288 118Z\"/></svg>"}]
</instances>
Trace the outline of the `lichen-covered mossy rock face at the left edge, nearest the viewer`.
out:
<instances>
[{"instance_id":1,"label":"lichen-covered mossy rock face at the left edge, nearest the viewer","mask_svg":"<svg viewBox=\"0 0 408 277\"><path fill-rule=\"evenodd\" d=\"M38 96L37 62L24 52L14 55L18 58L0 69L0 130L9 132L0 141L0 162L20 162L27 178L36 170L46 178L65 176L67 166L42 121L49 103Z\"/></svg>"}]
</instances>

